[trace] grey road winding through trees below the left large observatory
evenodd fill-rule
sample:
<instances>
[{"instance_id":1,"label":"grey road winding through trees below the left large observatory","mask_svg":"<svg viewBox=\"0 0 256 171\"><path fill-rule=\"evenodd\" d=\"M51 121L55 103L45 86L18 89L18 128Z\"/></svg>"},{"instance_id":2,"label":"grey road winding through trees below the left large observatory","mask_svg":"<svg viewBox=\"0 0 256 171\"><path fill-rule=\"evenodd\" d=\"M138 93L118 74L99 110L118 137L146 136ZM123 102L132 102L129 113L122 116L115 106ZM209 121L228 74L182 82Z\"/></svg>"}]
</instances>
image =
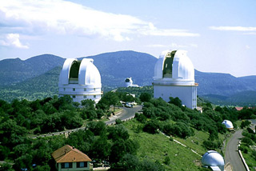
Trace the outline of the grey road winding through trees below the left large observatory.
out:
<instances>
[{"instance_id":1,"label":"grey road winding through trees below the left large observatory","mask_svg":"<svg viewBox=\"0 0 256 171\"><path fill-rule=\"evenodd\" d=\"M129 119L131 117L135 116L135 113L138 112L140 109L142 109L142 105L134 105L134 108L126 108L126 107L122 107L122 112L120 114L118 114L117 116L114 117L110 117L110 121L105 121L106 125L111 125L115 123L116 119L121 119L121 121L125 121L126 119ZM50 136L55 136L55 135L61 135L61 134L65 134L65 133L73 133L76 132L78 130L84 130L86 129L86 127L81 127L81 128L77 128L77 129L69 129L66 131L60 131L60 132L56 132L56 133L47 133L47 134L41 134L32 138L38 138L38 137L50 137Z\"/></svg>"}]
</instances>

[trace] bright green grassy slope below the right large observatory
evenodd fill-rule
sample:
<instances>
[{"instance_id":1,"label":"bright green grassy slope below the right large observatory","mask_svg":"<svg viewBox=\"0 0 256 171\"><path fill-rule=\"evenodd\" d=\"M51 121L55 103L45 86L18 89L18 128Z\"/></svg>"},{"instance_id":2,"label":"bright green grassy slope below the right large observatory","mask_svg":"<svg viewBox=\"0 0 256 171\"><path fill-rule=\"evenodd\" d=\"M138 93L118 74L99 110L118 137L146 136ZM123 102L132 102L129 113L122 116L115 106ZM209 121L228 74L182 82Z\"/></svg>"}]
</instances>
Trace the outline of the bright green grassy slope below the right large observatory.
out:
<instances>
[{"instance_id":1,"label":"bright green grassy slope below the right large observatory","mask_svg":"<svg viewBox=\"0 0 256 171\"><path fill-rule=\"evenodd\" d=\"M166 170L200 170L201 164L197 154L190 149L178 145L160 133L150 134L142 132L142 124L135 119L123 123L129 131L130 138L138 141L140 148L137 156L140 159L159 161ZM195 149L197 150L197 149ZM170 157L170 164L164 164L166 157Z\"/></svg>"}]
</instances>

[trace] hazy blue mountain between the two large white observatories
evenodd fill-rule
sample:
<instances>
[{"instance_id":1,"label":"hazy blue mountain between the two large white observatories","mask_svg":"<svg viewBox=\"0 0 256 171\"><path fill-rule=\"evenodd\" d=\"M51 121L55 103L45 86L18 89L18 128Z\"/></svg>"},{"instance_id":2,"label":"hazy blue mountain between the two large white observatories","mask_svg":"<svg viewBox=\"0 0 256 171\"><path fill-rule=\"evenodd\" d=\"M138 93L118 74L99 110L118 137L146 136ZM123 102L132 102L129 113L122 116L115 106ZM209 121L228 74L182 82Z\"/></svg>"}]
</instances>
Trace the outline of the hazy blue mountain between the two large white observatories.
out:
<instances>
[{"instance_id":1,"label":"hazy blue mountain between the two large white observatories","mask_svg":"<svg viewBox=\"0 0 256 171\"><path fill-rule=\"evenodd\" d=\"M112 87L125 86L125 79L132 78L134 84L151 85L154 75L154 64L157 58L146 53L118 51L98 54L93 58L101 76L102 85Z\"/></svg>"}]
</instances>

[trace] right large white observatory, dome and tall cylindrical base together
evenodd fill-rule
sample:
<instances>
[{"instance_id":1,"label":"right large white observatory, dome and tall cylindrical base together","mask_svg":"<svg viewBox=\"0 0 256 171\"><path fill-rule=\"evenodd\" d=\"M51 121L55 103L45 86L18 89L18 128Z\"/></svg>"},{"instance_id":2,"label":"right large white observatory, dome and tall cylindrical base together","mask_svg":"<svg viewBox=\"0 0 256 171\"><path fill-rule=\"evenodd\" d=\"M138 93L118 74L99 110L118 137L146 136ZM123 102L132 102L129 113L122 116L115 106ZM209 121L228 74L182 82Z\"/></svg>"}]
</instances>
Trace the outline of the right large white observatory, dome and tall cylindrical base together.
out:
<instances>
[{"instance_id":1,"label":"right large white observatory, dome and tall cylindrical base together","mask_svg":"<svg viewBox=\"0 0 256 171\"><path fill-rule=\"evenodd\" d=\"M154 66L154 97L178 97L182 105L197 107L197 83L194 83L194 66L185 50L165 50Z\"/></svg>"}]
</instances>

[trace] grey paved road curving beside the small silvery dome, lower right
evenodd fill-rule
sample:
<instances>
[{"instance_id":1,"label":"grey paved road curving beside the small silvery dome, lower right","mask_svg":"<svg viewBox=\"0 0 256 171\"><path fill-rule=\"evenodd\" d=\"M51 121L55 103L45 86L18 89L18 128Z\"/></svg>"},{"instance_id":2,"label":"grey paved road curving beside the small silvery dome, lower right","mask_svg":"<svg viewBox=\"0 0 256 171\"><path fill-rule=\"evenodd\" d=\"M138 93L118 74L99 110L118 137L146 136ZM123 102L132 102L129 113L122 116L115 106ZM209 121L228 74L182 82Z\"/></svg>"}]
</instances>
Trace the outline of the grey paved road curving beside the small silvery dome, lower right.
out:
<instances>
[{"instance_id":1,"label":"grey paved road curving beside the small silvery dome, lower right","mask_svg":"<svg viewBox=\"0 0 256 171\"><path fill-rule=\"evenodd\" d=\"M241 157L238 154L237 145L242 138L242 130L239 129L236 131L230 141L228 141L225 150L225 161L226 163L230 162L233 167L233 171L246 171L245 166L242 163Z\"/></svg>"}]
</instances>

